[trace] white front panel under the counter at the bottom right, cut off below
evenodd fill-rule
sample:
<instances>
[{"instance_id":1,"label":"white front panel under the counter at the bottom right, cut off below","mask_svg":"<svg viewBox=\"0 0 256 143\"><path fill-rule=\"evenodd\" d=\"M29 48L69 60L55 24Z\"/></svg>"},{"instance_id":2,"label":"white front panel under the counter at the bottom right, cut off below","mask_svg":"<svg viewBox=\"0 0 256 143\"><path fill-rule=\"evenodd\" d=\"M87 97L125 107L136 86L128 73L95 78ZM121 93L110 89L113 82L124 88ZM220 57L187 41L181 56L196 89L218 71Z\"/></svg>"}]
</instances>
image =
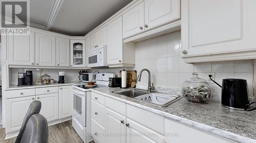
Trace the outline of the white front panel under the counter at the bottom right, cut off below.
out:
<instances>
[{"instance_id":1,"label":"white front panel under the counter at the bottom right, cut off below","mask_svg":"<svg viewBox=\"0 0 256 143\"><path fill-rule=\"evenodd\" d=\"M166 143L180 143L180 142L197 142L197 143L228 143L233 142L221 137L217 137L206 133L205 131L200 131L192 127L171 121L168 119L164 120L165 129L164 133L172 133L173 135L165 136ZM175 134L174 134L175 133ZM177 134L177 135L176 135ZM200 139L199 139L200 138Z\"/></svg>"}]
</instances>

